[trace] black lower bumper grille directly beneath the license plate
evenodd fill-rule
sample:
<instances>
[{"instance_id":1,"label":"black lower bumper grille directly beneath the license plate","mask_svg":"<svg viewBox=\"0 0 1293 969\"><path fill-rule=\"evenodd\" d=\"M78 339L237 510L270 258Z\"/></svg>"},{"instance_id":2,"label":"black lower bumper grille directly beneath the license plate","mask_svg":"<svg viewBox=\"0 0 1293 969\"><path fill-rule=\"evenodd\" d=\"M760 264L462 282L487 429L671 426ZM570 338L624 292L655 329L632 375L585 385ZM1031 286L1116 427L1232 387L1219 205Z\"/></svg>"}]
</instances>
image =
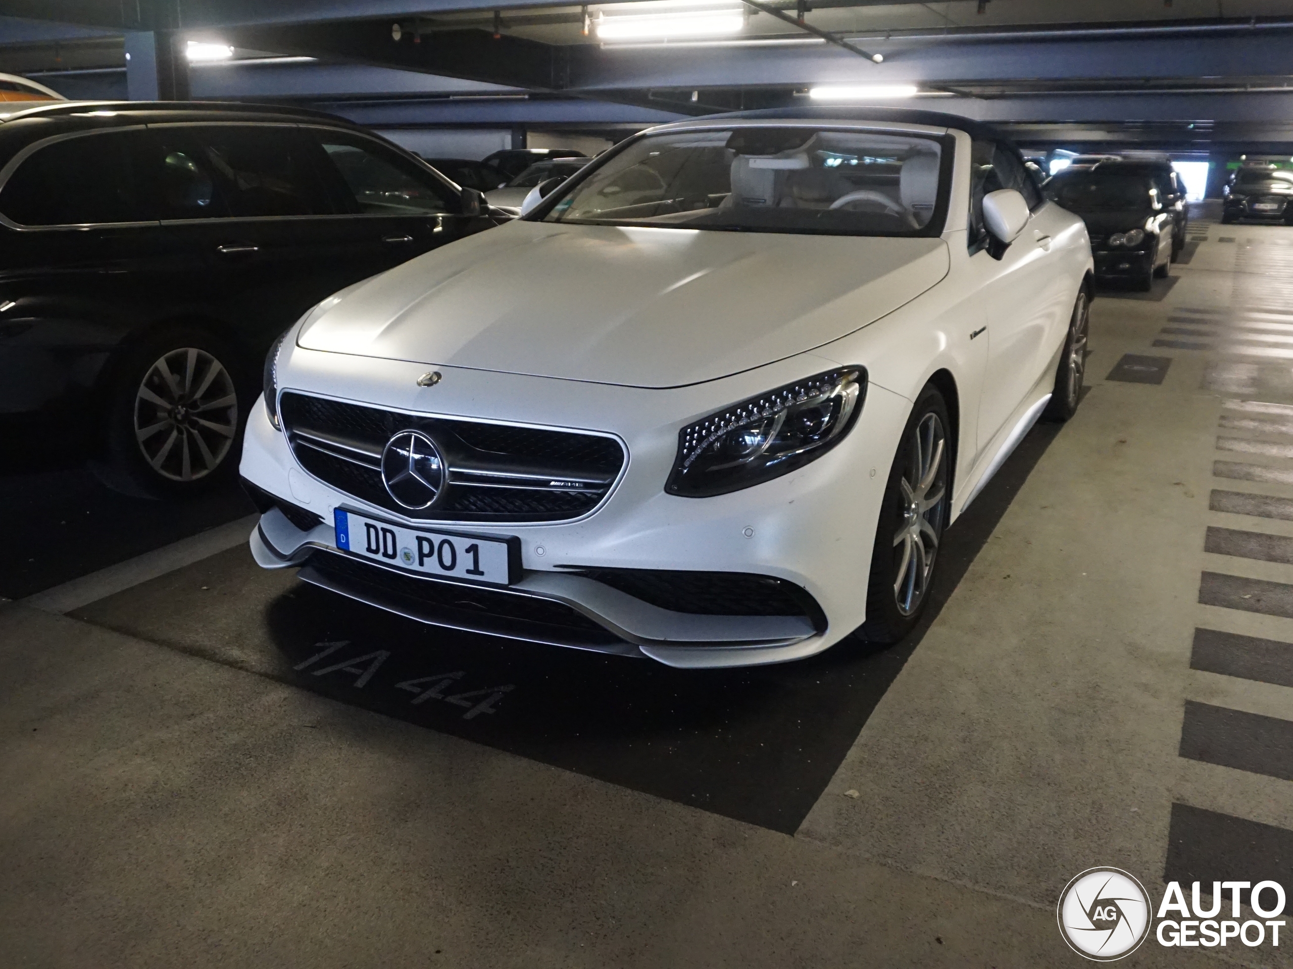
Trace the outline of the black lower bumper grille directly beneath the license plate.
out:
<instances>
[{"instance_id":1,"label":"black lower bumper grille directly beneath the license plate","mask_svg":"<svg viewBox=\"0 0 1293 969\"><path fill-rule=\"evenodd\" d=\"M418 579L332 552L315 552L308 565L328 579L339 580L345 588L370 593L366 598L403 605L410 612L425 619L442 619L485 632L491 625L487 620L495 620L494 630L502 634L526 630L562 641L621 642L578 610L552 599ZM498 627L498 623L504 625Z\"/></svg>"}]
</instances>

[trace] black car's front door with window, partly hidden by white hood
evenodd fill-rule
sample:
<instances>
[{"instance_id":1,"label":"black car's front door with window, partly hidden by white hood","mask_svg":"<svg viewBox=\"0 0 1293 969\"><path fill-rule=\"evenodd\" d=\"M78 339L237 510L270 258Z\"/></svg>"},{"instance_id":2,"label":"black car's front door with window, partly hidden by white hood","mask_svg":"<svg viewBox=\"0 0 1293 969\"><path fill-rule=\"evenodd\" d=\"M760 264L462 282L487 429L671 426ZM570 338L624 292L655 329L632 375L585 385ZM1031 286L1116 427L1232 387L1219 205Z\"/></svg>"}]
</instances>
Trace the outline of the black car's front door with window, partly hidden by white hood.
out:
<instances>
[{"instance_id":1,"label":"black car's front door with window, partly hidden by white hood","mask_svg":"<svg viewBox=\"0 0 1293 969\"><path fill-rule=\"evenodd\" d=\"M458 191L431 167L358 132L301 128L339 214L328 226L344 266L336 289L494 225L464 216Z\"/></svg>"}]
</instances>

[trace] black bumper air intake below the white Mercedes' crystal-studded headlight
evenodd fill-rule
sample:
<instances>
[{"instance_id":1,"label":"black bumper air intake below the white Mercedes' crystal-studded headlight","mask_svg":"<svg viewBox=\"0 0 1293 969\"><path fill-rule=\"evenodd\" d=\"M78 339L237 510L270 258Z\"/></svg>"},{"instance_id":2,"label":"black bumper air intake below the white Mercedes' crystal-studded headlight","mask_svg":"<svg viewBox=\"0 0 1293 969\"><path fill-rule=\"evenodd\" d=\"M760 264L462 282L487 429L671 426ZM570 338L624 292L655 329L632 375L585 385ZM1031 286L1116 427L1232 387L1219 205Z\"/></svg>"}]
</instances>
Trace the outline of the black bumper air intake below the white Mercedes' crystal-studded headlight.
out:
<instances>
[{"instance_id":1,"label":"black bumper air intake below the white Mercedes' crystal-studded headlight","mask_svg":"<svg viewBox=\"0 0 1293 969\"><path fill-rule=\"evenodd\" d=\"M715 616L806 616L825 629L825 614L803 588L747 572L662 568L572 568L643 602L675 612Z\"/></svg>"}]
</instances>

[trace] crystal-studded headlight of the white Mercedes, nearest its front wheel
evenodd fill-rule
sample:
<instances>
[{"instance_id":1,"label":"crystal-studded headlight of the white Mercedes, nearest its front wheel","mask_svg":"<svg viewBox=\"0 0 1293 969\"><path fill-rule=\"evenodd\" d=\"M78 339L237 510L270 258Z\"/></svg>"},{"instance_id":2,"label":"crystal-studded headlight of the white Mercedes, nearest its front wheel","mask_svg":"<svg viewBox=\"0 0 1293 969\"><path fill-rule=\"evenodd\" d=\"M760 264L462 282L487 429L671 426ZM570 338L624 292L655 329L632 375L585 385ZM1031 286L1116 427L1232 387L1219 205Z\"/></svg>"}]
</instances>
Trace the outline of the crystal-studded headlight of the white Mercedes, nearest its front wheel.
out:
<instances>
[{"instance_id":1,"label":"crystal-studded headlight of the white Mercedes, nearest its front wheel","mask_svg":"<svg viewBox=\"0 0 1293 969\"><path fill-rule=\"evenodd\" d=\"M678 434L665 491L707 497L793 472L838 444L866 395L866 371L842 367L733 404Z\"/></svg>"}]
</instances>

